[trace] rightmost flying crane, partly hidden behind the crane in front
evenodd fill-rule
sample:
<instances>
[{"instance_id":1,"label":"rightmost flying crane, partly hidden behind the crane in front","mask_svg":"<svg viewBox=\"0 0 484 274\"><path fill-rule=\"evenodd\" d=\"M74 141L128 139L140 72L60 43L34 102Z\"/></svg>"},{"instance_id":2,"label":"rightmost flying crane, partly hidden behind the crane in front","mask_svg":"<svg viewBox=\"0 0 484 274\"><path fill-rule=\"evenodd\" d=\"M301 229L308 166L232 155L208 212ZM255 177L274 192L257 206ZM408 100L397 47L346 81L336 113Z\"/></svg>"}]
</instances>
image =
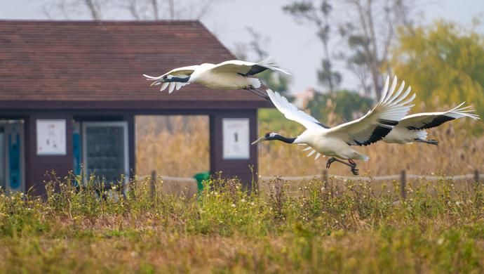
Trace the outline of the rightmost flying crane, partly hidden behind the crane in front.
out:
<instances>
[{"instance_id":1,"label":"rightmost flying crane, partly hidden behind the crane in front","mask_svg":"<svg viewBox=\"0 0 484 274\"><path fill-rule=\"evenodd\" d=\"M426 139L427 132L425 129L431 129L445 122L463 117L480 119L479 115L471 113L476 111L470 110L471 106L462 107L464 103L445 112L424 112L407 115L383 138L383 141L386 143L419 142L438 145L438 141Z\"/></svg>"}]
</instances>

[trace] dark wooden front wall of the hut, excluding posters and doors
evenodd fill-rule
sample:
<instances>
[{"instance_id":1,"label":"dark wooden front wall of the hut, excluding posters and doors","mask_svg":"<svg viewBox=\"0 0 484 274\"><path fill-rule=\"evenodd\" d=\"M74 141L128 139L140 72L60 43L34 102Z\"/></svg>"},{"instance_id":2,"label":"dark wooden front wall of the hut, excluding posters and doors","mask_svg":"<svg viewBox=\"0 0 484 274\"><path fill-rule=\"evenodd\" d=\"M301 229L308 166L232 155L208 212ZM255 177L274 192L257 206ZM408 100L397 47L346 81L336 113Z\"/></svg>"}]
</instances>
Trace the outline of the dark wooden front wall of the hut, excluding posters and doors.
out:
<instances>
[{"instance_id":1,"label":"dark wooden front wall of the hut, excluding posters and doors","mask_svg":"<svg viewBox=\"0 0 484 274\"><path fill-rule=\"evenodd\" d=\"M0 110L0 117L25 120L25 189L32 188L32 194L45 194L45 181L50 178L46 174L55 171L63 178L73 169L72 155L72 122L79 121L128 121L128 147L130 176L135 174L135 115L208 115L210 117L210 171L216 174L222 171L225 178L237 177L250 188L253 176L257 173L257 145L250 145L250 159L223 159L222 152L222 119L248 118L249 141L257 139L257 109L247 110L158 110L156 112L138 111L120 115L117 111L90 110ZM67 154L66 155L36 155L36 119L66 119ZM253 167L253 170L250 169Z\"/></svg>"}]
</instances>

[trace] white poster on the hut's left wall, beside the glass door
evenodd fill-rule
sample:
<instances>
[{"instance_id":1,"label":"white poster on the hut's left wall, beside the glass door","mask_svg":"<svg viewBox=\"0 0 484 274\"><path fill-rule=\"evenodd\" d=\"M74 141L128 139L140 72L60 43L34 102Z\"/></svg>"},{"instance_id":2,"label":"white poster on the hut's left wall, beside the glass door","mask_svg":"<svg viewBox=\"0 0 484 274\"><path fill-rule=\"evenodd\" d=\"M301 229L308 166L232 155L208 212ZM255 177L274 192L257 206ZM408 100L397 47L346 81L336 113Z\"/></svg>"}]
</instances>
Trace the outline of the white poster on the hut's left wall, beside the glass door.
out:
<instances>
[{"instance_id":1,"label":"white poster on the hut's left wall, beside the glass door","mask_svg":"<svg viewBox=\"0 0 484 274\"><path fill-rule=\"evenodd\" d=\"M37 119L37 155L66 155L66 120Z\"/></svg>"}]
</instances>

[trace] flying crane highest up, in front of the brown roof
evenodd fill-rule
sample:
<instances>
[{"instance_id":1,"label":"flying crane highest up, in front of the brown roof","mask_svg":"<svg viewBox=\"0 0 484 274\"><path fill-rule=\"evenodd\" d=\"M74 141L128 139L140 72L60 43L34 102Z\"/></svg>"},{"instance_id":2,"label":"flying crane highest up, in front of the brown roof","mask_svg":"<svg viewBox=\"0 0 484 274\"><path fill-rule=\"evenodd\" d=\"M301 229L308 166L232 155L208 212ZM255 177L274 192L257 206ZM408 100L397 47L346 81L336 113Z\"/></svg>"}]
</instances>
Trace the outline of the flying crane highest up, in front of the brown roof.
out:
<instances>
[{"instance_id":1,"label":"flying crane highest up, in front of the brown roof","mask_svg":"<svg viewBox=\"0 0 484 274\"><path fill-rule=\"evenodd\" d=\"M151 86L161 84L160 91L168 87L168 93L172 93L175 89L179 90L187 84L198 83L210 89L246 89L269 100L267 94L259 89L260 79L253 77L265 70L290 75L288 71L277 67L273 61L267 59L258 63L241 60L229 60L219 64L203 63L178 67L158 77L147 74L143 74L143 76L147 80L153 81Z\"/></svg>"}]
</instances>

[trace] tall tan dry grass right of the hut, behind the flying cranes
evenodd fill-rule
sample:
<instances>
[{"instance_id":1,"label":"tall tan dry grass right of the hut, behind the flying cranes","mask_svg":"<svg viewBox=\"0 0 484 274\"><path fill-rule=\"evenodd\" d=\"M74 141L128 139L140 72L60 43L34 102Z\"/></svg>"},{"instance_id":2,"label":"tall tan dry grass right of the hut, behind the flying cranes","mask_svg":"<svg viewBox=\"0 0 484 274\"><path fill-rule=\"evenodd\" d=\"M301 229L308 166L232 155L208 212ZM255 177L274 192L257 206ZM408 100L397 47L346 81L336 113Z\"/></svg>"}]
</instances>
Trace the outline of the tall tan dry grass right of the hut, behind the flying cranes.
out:
<instances>
[{"instance_id":1,"label":"tall tan dry grass right of the hut, behind the flying cranes","mask_svg":"<svg viewBox=\"0 0 484 274\"><path fill-rule=\"evenodd\" d=\"M368 162L358 161L360 174L398 174L406 169L411 174L466 174L474 169L484 170L484 137L469 136L465 121L448 123L429 131L429 138L440 141L438 146L424 143L408 145L378 142L367 147L354 147L370 156ZM320 174L327 157L314 160L301 152L302 146L284 143L260 145L260 173L264 175L295 176ZM351 175L349 168L332 164L330 174Z\"/></svg>"}]
</instances>

